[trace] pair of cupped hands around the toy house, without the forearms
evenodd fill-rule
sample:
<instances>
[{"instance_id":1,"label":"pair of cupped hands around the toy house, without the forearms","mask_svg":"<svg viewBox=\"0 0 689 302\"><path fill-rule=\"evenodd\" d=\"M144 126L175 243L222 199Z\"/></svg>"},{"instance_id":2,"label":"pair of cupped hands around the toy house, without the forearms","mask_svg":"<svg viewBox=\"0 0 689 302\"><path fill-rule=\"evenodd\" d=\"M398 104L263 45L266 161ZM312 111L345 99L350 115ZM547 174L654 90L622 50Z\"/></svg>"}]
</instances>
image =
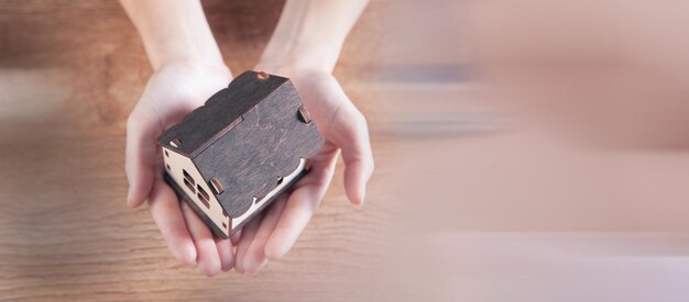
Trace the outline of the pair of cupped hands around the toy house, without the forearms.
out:
<instances>
[{"instance_id":1,"label":"pair of cupped hands around the toy house, without the forearms","mask_svg":"<svg viewBox=\"0 0 689 302\"><path fill-rule=\"evenodd\" d=\"M367 121L328 70L269 67L255 70L291 78L325 144L311 169L293 189L254 217L230 239L214 237L204 222L162 178L156 138L232 80L223 64L175 61L158 68L127 122L128 205L149 209L172 254L206 276L234 268L256 272L285 256L324 198L341 153L344 190L351 203L364 201L373 172Z\"/></svg>"}]
</instances>

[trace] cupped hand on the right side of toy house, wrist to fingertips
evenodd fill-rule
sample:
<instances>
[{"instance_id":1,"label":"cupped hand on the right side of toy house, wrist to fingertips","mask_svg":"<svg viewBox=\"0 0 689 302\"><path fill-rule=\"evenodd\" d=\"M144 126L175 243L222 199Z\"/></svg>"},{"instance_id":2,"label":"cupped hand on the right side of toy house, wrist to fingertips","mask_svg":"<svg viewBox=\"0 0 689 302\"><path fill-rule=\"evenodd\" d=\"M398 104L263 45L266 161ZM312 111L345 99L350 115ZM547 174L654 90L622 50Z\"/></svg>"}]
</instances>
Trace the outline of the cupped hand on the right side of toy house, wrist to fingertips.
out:
<instances>
[{"instance_id":1,"label":"cupped hand on the right side of toy house, wrist to fingertips","mask_svg":"<svg viewBox=\"0 0 689 302\"><path fill-rule=\"evenodd\" d=\"M280 259L292 248L330 186L340 150L346 165L344 189L353 204L363 203L367 182L373 174L367 121L330 72L270 68L264 71L292 79L326 142L311 158L310 171L292 193L275 200L263 219L255 217L244 226L234 261L239 272L255 272L267 259Z\"/></svg>"}]
</instances>

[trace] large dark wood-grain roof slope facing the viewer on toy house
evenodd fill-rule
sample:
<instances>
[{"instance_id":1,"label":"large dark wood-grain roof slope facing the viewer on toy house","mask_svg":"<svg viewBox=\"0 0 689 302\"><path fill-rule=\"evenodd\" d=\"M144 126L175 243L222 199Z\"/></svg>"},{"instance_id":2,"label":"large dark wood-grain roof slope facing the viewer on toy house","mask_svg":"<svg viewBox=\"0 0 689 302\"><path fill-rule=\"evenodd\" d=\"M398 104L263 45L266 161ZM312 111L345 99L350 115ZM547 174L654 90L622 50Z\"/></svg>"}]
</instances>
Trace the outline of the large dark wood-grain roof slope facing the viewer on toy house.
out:
<instances>
[{"instance_id":1,"label":"large dark wood-grain roof slope facing the viewer on toy house","mask_svg":"<svg viewBox=\"0 0 689 302\"><path fill-rule=\"evenodd\" d=\"M292 174L300 158L320 149L322 138L315 123L298 120L302 105L286 82L248 110L243 121L194 157L205 181L217 177L227 188L217 195L230 217L241 216L253 203Z\"/></svg>"}]
</instances>

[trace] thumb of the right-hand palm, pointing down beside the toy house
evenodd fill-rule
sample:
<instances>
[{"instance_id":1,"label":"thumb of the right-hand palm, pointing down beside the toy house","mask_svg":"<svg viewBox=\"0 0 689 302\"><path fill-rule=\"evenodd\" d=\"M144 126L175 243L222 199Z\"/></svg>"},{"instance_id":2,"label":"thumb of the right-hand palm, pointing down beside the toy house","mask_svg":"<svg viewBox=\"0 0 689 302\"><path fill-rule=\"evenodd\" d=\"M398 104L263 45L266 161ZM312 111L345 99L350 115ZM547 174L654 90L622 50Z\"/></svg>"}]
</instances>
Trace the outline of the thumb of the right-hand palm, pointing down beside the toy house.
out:
<instances>
[{"instance_id":1,"label":"thumb of the right-hand palm, pointing down beside the toy house","mask_svg":"<svg viewBox=\"0 0 689 302\"><path fill-rule=\"evenodd\" d=\"M369 127L365 118L353 107L347 103L340 109L335 119L342 128L336 135L335 142L342 148L344 161L344 191L353 204L360 205L365 199L367 183L373 174L373 152L369 138ZM354 119L350 116L357 116Z\"/></svg>"}]
</instances>

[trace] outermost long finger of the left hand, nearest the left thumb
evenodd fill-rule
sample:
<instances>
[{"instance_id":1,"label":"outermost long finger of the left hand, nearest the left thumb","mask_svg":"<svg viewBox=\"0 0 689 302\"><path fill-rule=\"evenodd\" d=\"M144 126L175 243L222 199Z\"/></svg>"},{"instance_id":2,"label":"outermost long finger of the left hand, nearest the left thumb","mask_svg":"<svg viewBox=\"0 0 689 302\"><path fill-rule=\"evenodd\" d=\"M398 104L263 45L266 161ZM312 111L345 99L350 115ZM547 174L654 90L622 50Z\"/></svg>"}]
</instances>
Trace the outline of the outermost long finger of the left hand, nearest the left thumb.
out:
<instances>
[{"instance_id":1,"label":"outermost long finger of the left hand, nearest the left thumb","mask_svg":"<svg viewBox=\"0 0 689 302\"><path fill-rule=\"evenodd\" d=\"M177 195L163 180L156 180L153 186L149 208L169 251L183 264L194 264L196 248L182 216Z\"/></svg>"}]
</instances>

